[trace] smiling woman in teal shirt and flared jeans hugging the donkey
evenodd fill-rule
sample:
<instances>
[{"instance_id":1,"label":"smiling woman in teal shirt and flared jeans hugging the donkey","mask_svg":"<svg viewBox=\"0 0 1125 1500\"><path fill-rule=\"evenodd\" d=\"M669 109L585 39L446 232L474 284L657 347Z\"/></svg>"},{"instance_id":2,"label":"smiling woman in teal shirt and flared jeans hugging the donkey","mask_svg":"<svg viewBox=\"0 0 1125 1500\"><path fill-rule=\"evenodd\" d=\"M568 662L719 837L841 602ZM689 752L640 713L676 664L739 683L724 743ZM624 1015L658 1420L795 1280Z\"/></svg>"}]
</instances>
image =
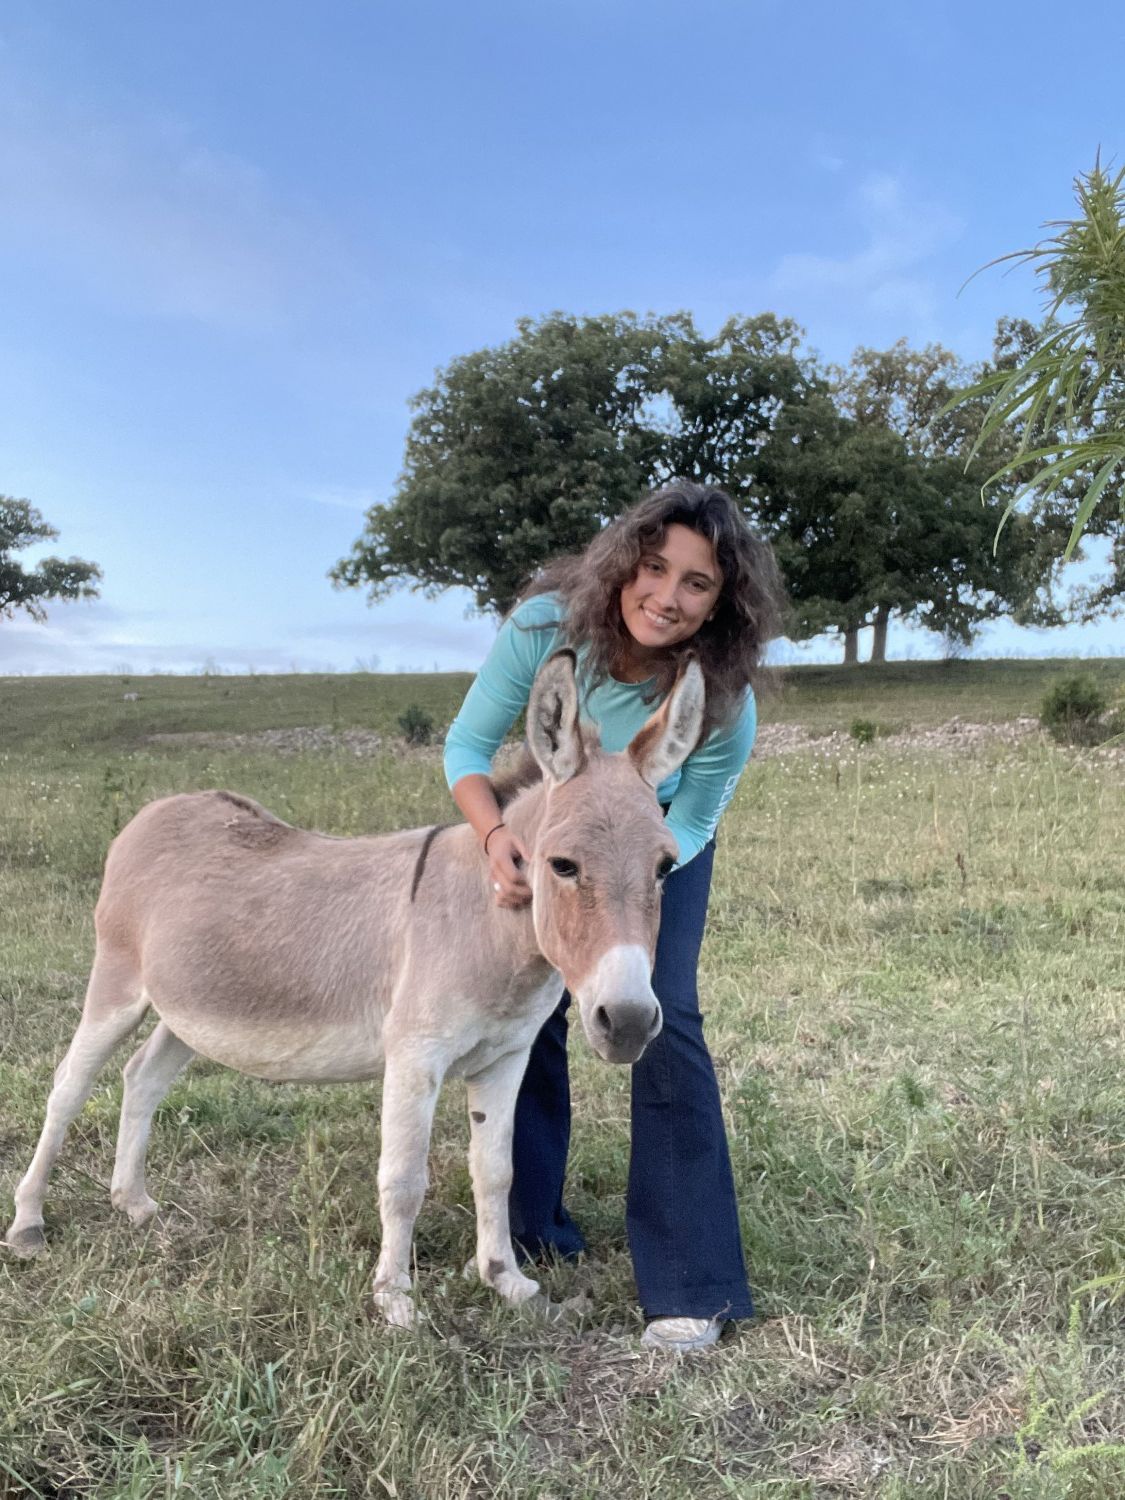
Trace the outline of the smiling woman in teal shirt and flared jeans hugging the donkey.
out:
<instances>
[{"instance_id":1,"label":"smiling woman in teal shirt and flared jeans hugging the donkey","mask_svg":"<svg viewBox=\"0 0 1125 1500\"><path fill-rule=\"evenodd\" d=\"M680 862L664 884L652 987L664 1024L633 1066L627 1227L644 1342L702 1348L748 1317L730 1158L706 1042L696 963L714 831L754 740L754 682L780 624L772 554L720 489L674 483L544 568L500 630L446 741L453 798L476 830L500 906L531 900L526 850L489 782L492 756L526 706L538 666L578 652L584 717L622 750L672 687L684 656L706 681L698 747L660 789ZM531 1256L576 1256L562 1206L570 1143L568 996L540 1032L516 1104L512 1233Z\"/></svg>"}]
</instances>

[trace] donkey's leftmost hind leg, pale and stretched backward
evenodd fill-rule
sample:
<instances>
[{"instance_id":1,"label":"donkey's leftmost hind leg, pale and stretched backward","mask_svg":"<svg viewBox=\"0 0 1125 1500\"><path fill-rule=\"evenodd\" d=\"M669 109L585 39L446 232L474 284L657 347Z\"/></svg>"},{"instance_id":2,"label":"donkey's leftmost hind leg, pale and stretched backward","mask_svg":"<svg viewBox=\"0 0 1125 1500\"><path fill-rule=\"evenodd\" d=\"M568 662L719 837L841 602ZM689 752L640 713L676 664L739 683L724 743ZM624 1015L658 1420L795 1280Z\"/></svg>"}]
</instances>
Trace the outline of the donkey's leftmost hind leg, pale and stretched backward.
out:
<instances>
[{"instance_id":1,"label":"donkey's leftmost hind leg, pale and stretched backward","mask_svg":"<svg viewBox=\"0 0 1125 1500\"><path fill-rule=\"evenodd\" d=\"M129 996L124 1002L122 993ZM88 1100L102 1065L117 1044L136 1029L147 1010L148 999L132 964L99 954L90 974L78 1030L56 1070L39 1144L15 1190L15 1218L6 1240L18 1256L34 1256L44 1248L46 1178L62 1149L66 1128Z\"/></svg>"}]
</instances>

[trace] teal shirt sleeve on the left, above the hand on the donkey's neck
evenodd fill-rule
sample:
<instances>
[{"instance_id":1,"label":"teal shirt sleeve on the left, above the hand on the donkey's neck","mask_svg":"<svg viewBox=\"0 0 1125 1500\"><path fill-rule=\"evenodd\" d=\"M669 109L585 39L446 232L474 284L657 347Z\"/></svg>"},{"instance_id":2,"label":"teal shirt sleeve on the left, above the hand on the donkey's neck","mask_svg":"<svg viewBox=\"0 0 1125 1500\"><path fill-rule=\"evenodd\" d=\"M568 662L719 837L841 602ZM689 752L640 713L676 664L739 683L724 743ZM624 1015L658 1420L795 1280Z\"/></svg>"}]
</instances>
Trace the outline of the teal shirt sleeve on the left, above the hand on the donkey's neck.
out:
<instances>
[{"instance_id":1,"label":"teal shirt sleeve on the left, above the hand on the donkey's neck","mask_svg":"<svg viewBox=\"0 0 1125 1500\"><path fill-rule=\"evenodd\" d=\"M444 765L450 788L462 776L492 774L492 758L528 706L536 674L560 644L560 610L549 594L513 609L446 735Z\"/></svg>"}]
</instances>

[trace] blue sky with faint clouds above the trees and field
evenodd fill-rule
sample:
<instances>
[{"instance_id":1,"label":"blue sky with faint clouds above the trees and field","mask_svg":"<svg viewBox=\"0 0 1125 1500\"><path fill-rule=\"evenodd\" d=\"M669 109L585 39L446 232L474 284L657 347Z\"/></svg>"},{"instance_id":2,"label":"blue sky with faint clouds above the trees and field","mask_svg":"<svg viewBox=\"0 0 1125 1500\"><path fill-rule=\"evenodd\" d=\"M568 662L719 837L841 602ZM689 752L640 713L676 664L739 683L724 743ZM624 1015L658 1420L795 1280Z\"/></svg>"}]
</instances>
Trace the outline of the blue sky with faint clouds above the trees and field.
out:
<instances>
[{"instance_id":1,"label":"blue sky with faint clouds above the trees and field","mask_svg":"<svg viewBox=\"0 0 1125 1500\"><path fill-rule=\"evenodd\" d=\"M554 309L981 357L1038 296L958 288L1120 159L1124 40L1119 0L8 0L0 492L105 582L0 674L476 668L466 597L326 579L435 369Z\"/></svg>"}]
</instances>

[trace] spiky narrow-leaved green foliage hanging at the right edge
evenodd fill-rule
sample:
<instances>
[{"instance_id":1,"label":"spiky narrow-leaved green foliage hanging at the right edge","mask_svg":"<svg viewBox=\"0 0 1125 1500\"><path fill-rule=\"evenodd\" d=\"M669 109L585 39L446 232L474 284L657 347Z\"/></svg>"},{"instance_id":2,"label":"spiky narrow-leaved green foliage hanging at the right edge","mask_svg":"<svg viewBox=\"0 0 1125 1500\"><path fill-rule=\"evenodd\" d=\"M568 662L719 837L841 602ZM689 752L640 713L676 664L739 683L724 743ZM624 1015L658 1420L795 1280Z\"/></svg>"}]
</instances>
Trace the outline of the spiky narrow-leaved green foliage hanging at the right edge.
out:
<instances>
[{"instance_id":1,"label":"spiky narrow-leaved green foliage hanging at the right edge","mask_svg":"<svg viewBox=\"0 0 1125 1500\"><path fill-rule=\"evenodd\" d=\"M999 261L1030 264L1042 282L1047 320L1023 358L986 372L960 398L988 399L974 456L998 434L1014 452L987 484L1022 471L1004 519L1028 495L1068 501L1070 556L1083 531L1106 513L1125 525L1125 168L1110 177L1095 160L1074 180L1078 214L1044 225L1058 231Z\"/></svg>"}]
</instances>

